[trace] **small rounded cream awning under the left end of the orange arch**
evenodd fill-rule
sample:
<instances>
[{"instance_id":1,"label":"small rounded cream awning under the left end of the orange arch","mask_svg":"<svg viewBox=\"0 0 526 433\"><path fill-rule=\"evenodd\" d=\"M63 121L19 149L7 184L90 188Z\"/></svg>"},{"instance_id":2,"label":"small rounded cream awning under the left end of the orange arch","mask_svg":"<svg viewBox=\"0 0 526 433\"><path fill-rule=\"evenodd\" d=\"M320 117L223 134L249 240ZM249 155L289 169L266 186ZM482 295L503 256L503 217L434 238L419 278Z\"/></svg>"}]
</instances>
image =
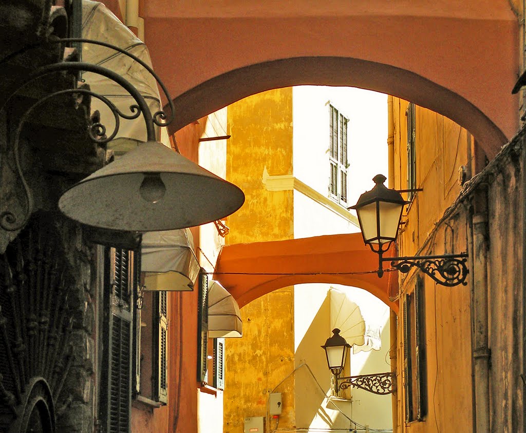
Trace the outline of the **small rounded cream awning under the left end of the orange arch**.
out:
<instances>
[{"instance_id":1,"label":"small rounded cream awning under the left end of the orange arch","mask_svg":"<svg viewBox=\"0 0 526 433\"><path fill-rule=\"evenodd\" d=\"M230 293L217 281L208 285L208 337L241 337L243 323L239 305Z\"/></svg>"}]
</instances>

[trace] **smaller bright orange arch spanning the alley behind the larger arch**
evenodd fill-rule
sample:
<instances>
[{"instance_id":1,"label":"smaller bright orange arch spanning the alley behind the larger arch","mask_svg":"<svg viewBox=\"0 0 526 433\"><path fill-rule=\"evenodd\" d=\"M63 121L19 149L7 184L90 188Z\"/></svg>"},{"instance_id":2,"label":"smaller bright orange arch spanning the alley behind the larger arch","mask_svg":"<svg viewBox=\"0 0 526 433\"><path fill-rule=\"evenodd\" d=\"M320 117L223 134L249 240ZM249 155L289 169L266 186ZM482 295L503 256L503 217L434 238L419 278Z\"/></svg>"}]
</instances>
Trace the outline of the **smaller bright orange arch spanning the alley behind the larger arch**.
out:
<instances>
[{"instance_id":1,"label":"smaller bright orange arch spanning the alley behind the larger arch","mask_svg":"<svg viewBox=\"0 0 526 433\"><path fill-rule=\"evenodd\" d=\"M360 287L392 310L398 303L398 274L379 279L378 255L363 244L361 233L315 236L272 242L226 245L214 278L242 307L256 298L295 284L332 283Z\"/></svg>"}]
</instances>

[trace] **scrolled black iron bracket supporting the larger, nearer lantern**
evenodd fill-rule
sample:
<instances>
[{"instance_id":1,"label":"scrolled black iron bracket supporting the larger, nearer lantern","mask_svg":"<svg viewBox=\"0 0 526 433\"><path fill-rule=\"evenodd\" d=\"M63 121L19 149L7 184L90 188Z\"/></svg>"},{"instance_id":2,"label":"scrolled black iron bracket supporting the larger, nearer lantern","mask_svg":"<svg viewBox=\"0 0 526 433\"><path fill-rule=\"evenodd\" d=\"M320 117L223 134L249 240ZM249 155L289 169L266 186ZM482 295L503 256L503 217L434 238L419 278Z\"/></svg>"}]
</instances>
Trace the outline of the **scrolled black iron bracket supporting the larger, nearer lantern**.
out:
<instances>
[{"instance_id":1,"label":"scrolled black iron bracket supporting the larger, nearer lantern","mask_svg":"<svg viewBox=\"0 0 526 433\"><path fill-rule=\"evenodd\" d=\"M418 267L437 284L447 287L466 285L469 270L466 266L468 254L421 255L414 257L381 257L382 262L391 262L391 266L406 274L411 267Z\"/></svg>"}]
</instances>

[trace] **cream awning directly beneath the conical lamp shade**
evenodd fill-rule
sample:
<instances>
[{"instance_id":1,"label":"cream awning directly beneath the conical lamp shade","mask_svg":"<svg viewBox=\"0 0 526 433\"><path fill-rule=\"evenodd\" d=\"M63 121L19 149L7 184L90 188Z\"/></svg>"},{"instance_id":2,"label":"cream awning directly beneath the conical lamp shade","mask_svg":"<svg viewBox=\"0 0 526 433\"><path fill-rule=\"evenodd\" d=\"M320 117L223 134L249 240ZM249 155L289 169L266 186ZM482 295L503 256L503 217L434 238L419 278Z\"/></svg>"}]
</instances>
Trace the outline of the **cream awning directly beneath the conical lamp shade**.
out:
<instances>
[{"instance_id":1,"label":"cream awning directly beneath the conical lamp shade","mask_svg":"<svg viewBox=\"0 0 526 433\"><path fill-rule=\"evenodd\" d=\"M144 233L140 270L145 276L145 290L193 290L199 262L190 230Z\"/></svg>"}]
</instances>

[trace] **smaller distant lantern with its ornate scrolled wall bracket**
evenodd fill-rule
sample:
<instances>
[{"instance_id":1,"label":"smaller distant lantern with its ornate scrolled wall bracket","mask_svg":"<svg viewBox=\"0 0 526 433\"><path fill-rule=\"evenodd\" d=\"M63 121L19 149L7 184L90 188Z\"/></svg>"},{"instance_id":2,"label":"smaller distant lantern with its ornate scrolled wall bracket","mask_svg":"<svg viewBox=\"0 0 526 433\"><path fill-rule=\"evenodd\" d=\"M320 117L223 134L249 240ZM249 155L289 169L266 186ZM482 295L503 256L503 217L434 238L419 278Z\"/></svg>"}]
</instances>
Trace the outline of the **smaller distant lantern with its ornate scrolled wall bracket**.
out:
<instances>
[{"instance_id":1,"label":"smaller distant lantern with its ornate scrolled wall bracket","mask_svg":"<svg viewBox=\"0 0 526 433\"><path fill-rule=\"evenodd\" d=\"M340 377L345 368L347 353L351 346L340 335L339 329L332 329L332 336L327 338L325 345L321 348L325 350L327 365L335 379L336 394L341 389L347 389L351 386L379 395L391 394L395 390L396 378L395 374L391 372Z\"/></svg>"}]
</instances>

